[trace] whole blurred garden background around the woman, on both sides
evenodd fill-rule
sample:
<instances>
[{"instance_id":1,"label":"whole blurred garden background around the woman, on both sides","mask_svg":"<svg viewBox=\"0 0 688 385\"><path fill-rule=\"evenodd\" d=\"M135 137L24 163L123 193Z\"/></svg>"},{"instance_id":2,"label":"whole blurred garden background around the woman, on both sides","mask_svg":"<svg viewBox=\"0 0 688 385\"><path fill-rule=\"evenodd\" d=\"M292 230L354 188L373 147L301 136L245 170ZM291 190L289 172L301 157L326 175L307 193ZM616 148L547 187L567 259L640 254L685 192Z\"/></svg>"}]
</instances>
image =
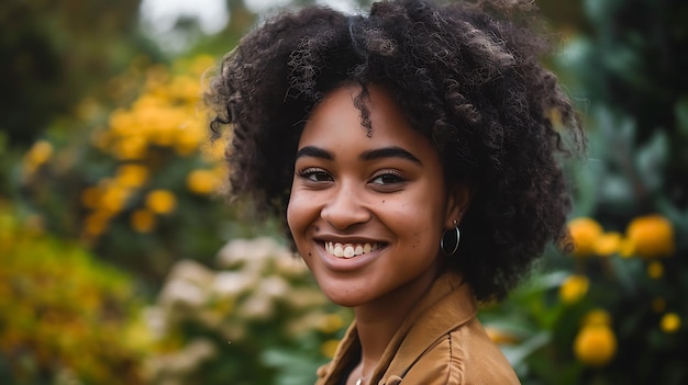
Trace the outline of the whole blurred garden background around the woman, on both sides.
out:
<instances>
[{"instance_id":1,"label":"whole blurred garden background around the woman, on both sides","mask_svg":"<svg viewBox=\"0 0 688 385\"><path fill-rule=\"evenodd\" d=\"M225 202L199 99L311 2L0 3L0 383L313 383L351 314ZM536 3L589 135L576 248L480 317L524 384L687 384L688 3Z\"/></svg>"}]
</instances>

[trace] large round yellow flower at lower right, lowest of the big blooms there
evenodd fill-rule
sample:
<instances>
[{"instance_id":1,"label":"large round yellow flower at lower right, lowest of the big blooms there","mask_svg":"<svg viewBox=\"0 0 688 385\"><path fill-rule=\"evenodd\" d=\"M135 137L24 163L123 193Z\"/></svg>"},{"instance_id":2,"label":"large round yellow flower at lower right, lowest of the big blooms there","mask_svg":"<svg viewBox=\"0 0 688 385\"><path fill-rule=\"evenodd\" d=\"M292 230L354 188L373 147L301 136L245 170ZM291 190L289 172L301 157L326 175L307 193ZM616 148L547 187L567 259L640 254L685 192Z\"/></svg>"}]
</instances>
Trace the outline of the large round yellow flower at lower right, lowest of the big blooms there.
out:
<instances>
[{"instance_id":1,"label":"large round yellow flower at lower right, lowest of the big blooms there","mask_svg":"<svg viewBox=\"0 0 688 385\"><path fill-rule=\"evenodd\" d=\"M617 353L617 337L608 325L586 325L576 336L574 353L587 365L603 366Z\"/></svg>"}]
</instances>

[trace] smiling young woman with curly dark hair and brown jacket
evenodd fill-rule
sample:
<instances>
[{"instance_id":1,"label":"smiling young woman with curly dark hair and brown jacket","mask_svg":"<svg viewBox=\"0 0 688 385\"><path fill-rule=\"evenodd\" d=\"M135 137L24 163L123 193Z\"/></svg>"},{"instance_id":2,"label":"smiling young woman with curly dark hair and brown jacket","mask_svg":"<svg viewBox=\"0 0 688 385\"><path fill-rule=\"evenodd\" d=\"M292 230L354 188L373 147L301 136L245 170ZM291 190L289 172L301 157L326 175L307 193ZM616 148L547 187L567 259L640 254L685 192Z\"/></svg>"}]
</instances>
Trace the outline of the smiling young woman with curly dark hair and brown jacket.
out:
<instances>
[{"instance_id":1,"label":"smiling young woman with curly dark hair and brown jacket","mask_svg":"<svg viewBox=\"0 0 688 385\"><path fill-rule=\"evenodd\" d=\"M582 147L531 11L309 7L223 60L207 101L213 131L232 129L233 194L285 218L324 294L355 313L318 384L519 383L477 303L565 239L556 154Z\"/></svg>"}]
</instances>

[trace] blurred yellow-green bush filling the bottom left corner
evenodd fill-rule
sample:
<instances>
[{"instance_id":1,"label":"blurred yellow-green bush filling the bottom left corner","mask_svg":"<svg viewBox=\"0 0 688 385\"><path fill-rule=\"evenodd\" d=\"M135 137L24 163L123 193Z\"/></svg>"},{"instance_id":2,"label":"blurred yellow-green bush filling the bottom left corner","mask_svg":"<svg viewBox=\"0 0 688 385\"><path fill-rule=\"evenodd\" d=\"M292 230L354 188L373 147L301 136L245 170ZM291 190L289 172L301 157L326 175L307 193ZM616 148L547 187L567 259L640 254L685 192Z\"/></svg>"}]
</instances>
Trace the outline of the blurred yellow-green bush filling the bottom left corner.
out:
<instances>
[{"instance_id":1,"label":"blurred yellow-green bush filling the bottom left corner","mask_svg":"<svg viewBox=\"0 0 688 385\"><path fill-rule=\"evenodd\" d=\"M131 276L18 217L0 202L0 382L142 384Z\"/></svg>"}]
</instances>

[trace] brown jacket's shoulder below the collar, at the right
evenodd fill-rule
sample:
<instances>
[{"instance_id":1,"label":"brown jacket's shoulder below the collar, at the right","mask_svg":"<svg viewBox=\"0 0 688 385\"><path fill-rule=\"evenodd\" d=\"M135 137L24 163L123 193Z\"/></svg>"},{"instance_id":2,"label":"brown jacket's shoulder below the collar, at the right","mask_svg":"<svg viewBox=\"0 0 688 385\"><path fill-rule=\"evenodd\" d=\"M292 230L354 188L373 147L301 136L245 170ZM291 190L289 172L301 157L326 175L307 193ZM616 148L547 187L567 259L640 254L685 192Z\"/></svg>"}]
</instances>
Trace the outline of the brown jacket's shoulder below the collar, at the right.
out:
<instances>
[{"instance_id":1,"label":"brown jacket's shoulder below the collar, at the right","mask_svg":"<svg viewBox=\"0 0 688 385\"><path fill-rule=\"evenodd\" d=\"M397 383L401 383L401 378ZM424 351L403 376L403 384L508 385L520 382L507 358L474 318Z\"/></svg>"}]
</instances>

